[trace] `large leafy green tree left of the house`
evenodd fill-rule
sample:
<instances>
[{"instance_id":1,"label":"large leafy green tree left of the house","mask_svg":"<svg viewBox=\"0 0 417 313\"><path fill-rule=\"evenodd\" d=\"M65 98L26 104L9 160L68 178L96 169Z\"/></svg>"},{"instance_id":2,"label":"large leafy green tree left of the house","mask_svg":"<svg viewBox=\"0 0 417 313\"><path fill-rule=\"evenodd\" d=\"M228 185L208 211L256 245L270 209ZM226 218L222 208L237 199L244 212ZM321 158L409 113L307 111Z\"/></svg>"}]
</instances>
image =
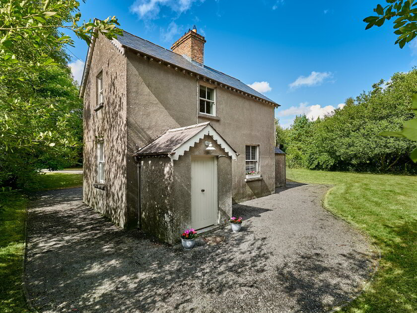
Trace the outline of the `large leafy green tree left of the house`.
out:
<instances>
[{"instance_id":1,"label":"large leafy green tree left of the house","mask_svg":"<svg viewBox=\"0 0 417 313\"><path fill-rule=\"evenodd\" d=\"M87 44L121 34L115 17L80 23L74 0L0 3L0 186L22 188L40 167L79 151L81 106L64 47L70 29Z\"/></svg>"}]
</instances>

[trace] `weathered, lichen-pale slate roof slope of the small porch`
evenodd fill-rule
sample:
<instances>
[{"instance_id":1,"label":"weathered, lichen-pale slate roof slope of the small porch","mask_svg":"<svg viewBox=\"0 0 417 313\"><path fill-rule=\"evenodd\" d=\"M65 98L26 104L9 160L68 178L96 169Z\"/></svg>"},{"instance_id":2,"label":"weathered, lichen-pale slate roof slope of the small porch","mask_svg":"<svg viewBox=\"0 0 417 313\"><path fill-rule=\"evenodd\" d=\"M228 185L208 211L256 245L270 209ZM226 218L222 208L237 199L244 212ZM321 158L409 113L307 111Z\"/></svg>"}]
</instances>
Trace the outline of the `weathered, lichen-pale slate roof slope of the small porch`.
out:
<instances>
[{"instance_id":1,"label":"weathered, lichen-pale slate roof slope of the small porch","mask_svg":"<svg viewBox=\"0 0 417 313\"><path fill-rule=\"evenodd\" d=\"M139 149L137 155L168 155L175 149L192 138L210 122L191 125L188 127L170 129L143 148Z\"/></svg>"}]
</instances>

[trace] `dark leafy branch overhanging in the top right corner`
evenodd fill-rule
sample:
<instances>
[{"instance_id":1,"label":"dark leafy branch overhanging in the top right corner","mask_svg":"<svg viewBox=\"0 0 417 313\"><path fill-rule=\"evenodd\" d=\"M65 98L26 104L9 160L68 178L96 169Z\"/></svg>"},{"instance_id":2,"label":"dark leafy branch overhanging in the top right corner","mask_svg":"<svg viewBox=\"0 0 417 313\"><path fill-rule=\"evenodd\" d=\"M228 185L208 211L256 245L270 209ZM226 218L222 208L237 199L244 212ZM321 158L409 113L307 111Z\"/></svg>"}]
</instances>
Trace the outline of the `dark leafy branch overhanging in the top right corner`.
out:
<instances>
[{"instance_id":1,"label":"dark leafy branch overhanging in the top right corner","mask_svg":"<svg viewBox=\"0 0 417 313\"><path fill-rule=\"evenodd\" d=\"M395 44L402 49L406 43L417 36L417 1L416 0L386 0L388 5L378 4L374 8L377 16L368 16L363 21L367 23L365 29L382 26L386 20L395 18L394 33L398 35Z\"/></svg>"}]
</instances>

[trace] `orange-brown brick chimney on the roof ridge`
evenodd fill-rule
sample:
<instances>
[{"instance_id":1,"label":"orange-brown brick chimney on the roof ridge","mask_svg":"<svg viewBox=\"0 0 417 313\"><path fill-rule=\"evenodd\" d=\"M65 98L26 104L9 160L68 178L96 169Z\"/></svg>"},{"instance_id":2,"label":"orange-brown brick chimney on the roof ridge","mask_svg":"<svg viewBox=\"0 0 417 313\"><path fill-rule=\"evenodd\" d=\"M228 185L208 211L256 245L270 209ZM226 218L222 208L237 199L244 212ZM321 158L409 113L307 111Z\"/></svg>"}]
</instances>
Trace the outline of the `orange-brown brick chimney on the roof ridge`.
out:
<instances>
[{"instance_id":1,"label":"orange-brown brick chimney on the roof ridge","mask_svg":"<svg viewBox=\"0 0 417 313\"><path fill-rule=\"evenodd\" d=\"M206 40L197 33L197 27L189 29L180 39L173 43L171 50L180 55L186 55L191 60L204 64L204 44Z\"/></svg>"}]
</instances>

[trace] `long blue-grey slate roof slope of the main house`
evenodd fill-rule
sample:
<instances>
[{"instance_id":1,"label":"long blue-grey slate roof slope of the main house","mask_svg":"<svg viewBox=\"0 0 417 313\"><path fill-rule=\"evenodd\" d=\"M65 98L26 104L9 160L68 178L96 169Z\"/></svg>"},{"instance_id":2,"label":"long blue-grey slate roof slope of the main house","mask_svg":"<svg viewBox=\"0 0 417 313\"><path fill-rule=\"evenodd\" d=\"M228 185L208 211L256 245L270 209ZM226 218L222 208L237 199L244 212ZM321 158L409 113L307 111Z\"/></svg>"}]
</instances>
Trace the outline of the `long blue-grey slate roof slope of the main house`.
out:
<instances>
[{"instance_id":1,"label":"long blue-grey slate roof slope of the main house","mask_svg":"<svg viewBox=\"0 0 417 313\"><path fill-rule=\"evenodd\" d=\"M207 77L209 79L216 80L220 83L223 83L225 85L228 85L230 87L233 87L235 89L241 90L243 92L246 92L248 94L251 94L253 96L259 97L261 99L267 100L269 102L272 102L276 105L275 101L271 100L270 98L266 97L262 93L252 89L244 82L240 81L237 78L233 78L231 76L228 76L224 73L218 72L214 69L209 68L208 66L198 66L187 59L185 59L183 56L172 52L171 50L162 48L158 45L155 45L154 43L151 43L150 41L147 41L145 39L142 39L138 36L135 36L131 33L128 33L126 31L123 31L123 36L118 36L117 40L126 47L129 47L131 49L137 50L139 53L143 53L152 57L155 57L159 60L165 61L167 63L173 64L179 68L182 68L184 70L188 70L194 73L197 73L201 76Z\"/></svg>"}]
</instances>

